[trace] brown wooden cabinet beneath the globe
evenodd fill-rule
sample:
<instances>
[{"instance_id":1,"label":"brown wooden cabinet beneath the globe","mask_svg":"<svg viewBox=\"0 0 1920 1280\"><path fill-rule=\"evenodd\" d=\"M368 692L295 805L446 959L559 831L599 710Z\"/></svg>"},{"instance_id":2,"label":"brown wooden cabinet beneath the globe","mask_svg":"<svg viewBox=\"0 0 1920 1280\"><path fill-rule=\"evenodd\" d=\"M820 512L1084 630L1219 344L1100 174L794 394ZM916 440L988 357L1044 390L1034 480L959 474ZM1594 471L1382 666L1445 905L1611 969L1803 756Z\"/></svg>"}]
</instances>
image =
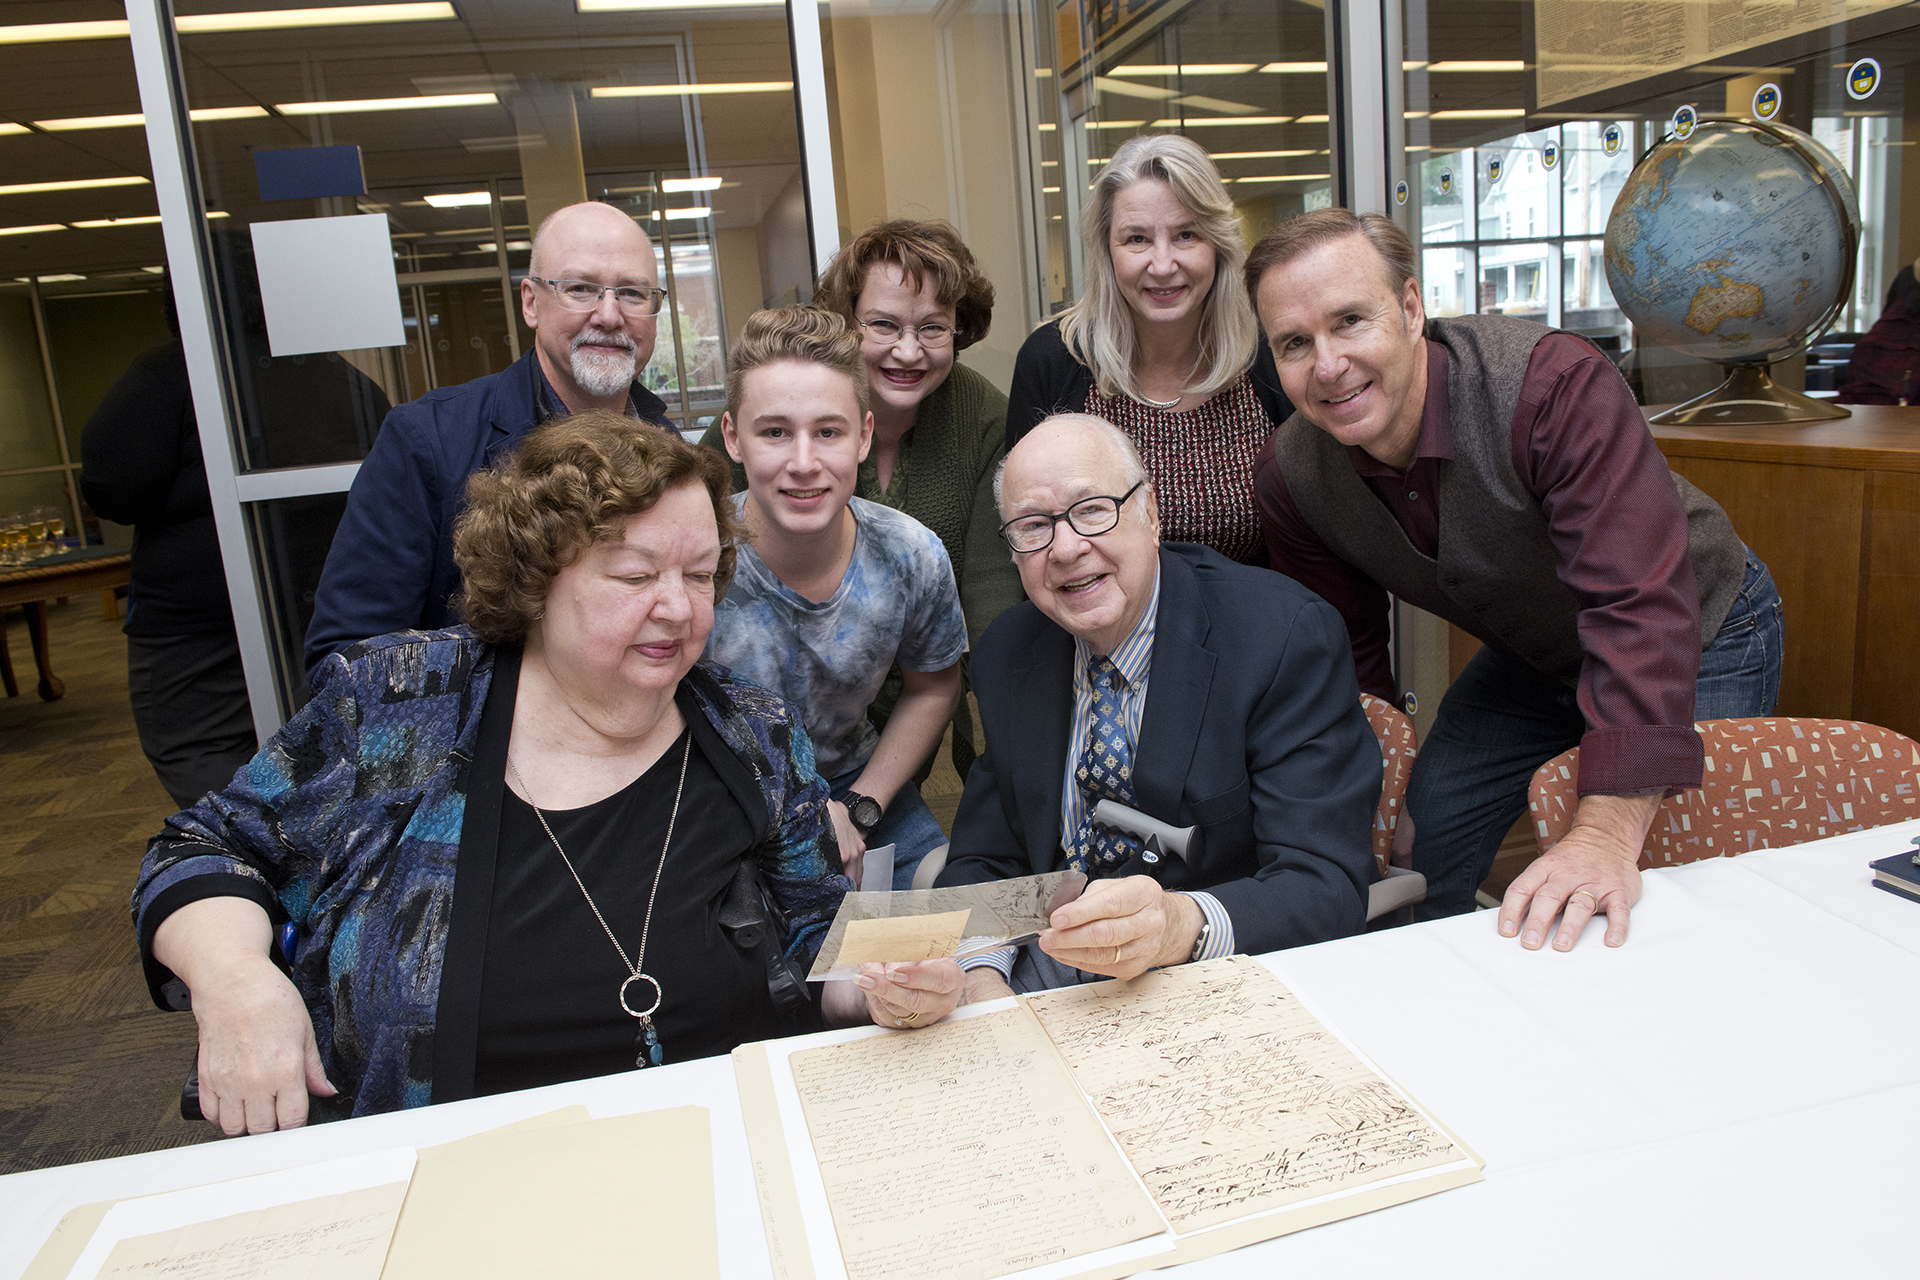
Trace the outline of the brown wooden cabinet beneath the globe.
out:
<instances>
[{"instance_id":1,"label":"brown wooden cabinet beneath the globe","mask_svg":"<svg viewBox=\"0 0 1920 1280\"><path fill-rule=\"evenodd\" d=\"M1655 426L1653 439L1780 585L1780 714L1920 737L1920 407L1851 409L1805 426Z\"/></svg>"}]
</instances>

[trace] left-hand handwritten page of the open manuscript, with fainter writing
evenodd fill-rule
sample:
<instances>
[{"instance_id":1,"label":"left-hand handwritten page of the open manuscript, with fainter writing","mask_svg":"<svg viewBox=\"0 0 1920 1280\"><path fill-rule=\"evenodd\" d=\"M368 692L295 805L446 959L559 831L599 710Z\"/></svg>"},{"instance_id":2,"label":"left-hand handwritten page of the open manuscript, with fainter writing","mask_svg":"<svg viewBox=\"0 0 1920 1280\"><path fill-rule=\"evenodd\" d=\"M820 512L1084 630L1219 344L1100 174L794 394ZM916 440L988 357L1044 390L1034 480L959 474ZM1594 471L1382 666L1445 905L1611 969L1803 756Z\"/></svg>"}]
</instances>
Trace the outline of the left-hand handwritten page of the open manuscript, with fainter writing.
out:
<instances>
[{"instance_id":1,"label":"left-hand handwritten page of the open manuscript, with fainter writing","mask_svg":"<svg viewBox=\"0 0 1920 1280\"><path fill-rule=\"evenodd\" d=\"M849 1280L985 1280L1165 1230L1025 1007L789 1061Z\"/></svg>"}]
</instances>

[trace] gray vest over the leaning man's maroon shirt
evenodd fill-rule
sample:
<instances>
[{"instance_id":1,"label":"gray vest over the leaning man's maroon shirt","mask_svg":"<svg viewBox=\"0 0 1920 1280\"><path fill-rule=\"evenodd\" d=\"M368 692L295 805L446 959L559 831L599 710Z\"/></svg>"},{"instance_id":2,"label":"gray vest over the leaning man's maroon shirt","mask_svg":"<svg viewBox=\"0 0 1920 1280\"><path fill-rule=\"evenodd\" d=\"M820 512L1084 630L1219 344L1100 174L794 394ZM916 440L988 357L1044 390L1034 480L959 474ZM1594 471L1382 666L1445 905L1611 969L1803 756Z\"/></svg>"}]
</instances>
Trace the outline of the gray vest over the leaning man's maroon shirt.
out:
<instances>
[{"instance_id":1,"label":"gray vest over the leaning man's maroon shirt","mask_svg":"<svg viewBox=\"0 0 1920 1280\"><path fill-rule=\"evenodd\" d=\"M1553 330L1509 317L1428 320L1448 353L1453 461L1440 462L1440 558L1407 541L1354 470L1346 447L1298 413L1273 455L1300 518L1327 547L1400 599L1574 685L1580 601L1559 580L1559 551L1540 499L1513 470L1513 411L1526 363ZM1745 578L1747 551L1720 505L1674 476L1699 583L1701 649L1720 631Z\"/></svg>"}]
</instances>

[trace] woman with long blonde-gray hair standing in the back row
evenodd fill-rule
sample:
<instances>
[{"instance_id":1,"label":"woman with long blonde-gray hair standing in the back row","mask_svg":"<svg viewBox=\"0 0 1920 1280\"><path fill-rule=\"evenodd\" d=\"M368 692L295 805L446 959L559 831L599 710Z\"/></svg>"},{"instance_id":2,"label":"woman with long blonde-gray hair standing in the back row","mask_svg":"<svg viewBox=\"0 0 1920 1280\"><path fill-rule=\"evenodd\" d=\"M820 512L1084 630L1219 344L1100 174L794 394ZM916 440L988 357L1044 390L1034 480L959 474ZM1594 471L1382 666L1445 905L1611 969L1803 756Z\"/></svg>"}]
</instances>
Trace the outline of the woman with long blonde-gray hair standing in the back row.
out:
<instances>
[{"instance_id":1,"label":"woman with long blonde-gray hair standing in the back row","mask_svg":"<svg viewBox=\"0 0 1920 1280\"><path fill-rule=\"evenodd\" d=\"M1167 541L1265 564L1254 459L1294 407L1240 286L1246 244L1198 144L1129 138L1081 217L1087 288L1020 347L1006 447L1052 413L1133 438Z\"/></svg>"}]
</instances>

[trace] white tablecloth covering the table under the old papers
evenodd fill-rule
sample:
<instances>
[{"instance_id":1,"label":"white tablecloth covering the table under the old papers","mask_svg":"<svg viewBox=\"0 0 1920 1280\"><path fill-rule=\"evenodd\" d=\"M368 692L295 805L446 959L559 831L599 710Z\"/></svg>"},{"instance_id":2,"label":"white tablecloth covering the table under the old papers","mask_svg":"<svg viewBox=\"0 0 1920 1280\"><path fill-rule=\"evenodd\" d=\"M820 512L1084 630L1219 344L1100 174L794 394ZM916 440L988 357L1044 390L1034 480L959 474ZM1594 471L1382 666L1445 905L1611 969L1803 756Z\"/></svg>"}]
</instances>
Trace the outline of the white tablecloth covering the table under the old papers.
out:
<instances>
[{"instance_id":1,"label":"white tablecloth covering the table under the old papers","mask_svg":"<svg viewBox=\"0 0 1920 1280\"><path fill-rule=\"evenodd\" d=\"M1920 902L1866 862L1920 821L1645 877L1624 948L1500 938L1492 912L1267 963L1486 1161L1486 1182L1194 1276L1914 1276ZM766 1274L726 1057L0 1178L0 1280L73 1205L582 1102L712 1113L722 1270Z\"/></svg>"}]
</instances>

